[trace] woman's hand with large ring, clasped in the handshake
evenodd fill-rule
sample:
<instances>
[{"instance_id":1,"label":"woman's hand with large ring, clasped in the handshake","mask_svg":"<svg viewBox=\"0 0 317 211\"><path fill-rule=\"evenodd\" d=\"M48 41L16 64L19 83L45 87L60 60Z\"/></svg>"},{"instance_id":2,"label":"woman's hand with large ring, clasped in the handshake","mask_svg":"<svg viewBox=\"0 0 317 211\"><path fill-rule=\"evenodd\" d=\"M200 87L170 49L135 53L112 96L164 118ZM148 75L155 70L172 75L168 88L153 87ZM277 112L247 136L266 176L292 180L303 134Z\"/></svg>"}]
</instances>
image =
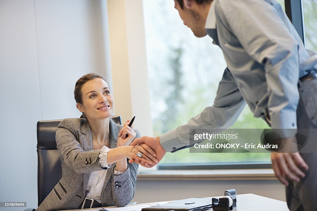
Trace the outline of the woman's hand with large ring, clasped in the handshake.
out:
<instances>
[{"instance_id":1,"label":"woman's hand with large ring, clasped in the handshake","mask_svg":"<svg viewBox=\"0 0 317 211\"><path fill-rule=\"evenodd\" d=\"M150 167L159 163L159 161L155 158L156 157L155 152L146 144L127 146L127 147L129 147L127 148L127 152L126 152L127 158L140 161L140 163L143 163L142 166ZM143 156L138 157L137 156L138 152L141 152Z\"/></svg>"}]
</instances>

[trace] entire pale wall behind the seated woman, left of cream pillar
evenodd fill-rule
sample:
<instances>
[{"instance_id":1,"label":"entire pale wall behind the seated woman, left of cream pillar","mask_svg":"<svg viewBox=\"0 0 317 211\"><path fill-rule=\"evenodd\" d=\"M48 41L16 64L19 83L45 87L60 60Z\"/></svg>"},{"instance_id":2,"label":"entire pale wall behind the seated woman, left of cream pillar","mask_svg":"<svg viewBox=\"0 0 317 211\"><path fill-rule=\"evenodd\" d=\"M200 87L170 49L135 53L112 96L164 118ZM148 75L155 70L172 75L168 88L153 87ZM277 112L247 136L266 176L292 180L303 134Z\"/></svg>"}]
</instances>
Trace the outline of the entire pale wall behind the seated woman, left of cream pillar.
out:
<instances>
[{"instance_id":1,"label":"entire pale wall behind the seated woman, left of cream pillar","mask_svg":"<svg viewBox=\"0 0 317 211\"><path fill-rule=\"evenodd\" d=\"M37 121L79 117L76 80L111 77L107 2L1 0L0 32L0 201L36 208Z\"/></svg>"}]
</instances>

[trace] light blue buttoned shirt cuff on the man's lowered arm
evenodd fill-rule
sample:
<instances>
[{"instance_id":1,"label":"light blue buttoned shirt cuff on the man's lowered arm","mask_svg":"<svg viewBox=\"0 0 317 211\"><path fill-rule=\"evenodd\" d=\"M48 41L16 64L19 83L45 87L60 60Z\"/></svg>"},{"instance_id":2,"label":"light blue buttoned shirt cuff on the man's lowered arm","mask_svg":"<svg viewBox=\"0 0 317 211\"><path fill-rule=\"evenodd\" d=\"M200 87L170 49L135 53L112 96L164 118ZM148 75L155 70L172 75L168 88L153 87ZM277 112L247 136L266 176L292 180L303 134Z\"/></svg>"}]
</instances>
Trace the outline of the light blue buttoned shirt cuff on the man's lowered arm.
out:
<instances>
[{"instance_id":1,"label":"light blue buttoned shirt cuff on the man's lowered arm","mask_svg":"<svg viewBox=\"0 0 317 211\"><path fill-rule=\"evenodd\" d=\"M270 114L271 127L275 130L281 138L293 137L297 131L297 116L293 111L282 111L279 114Z\"/></svg>"}]
</instances>

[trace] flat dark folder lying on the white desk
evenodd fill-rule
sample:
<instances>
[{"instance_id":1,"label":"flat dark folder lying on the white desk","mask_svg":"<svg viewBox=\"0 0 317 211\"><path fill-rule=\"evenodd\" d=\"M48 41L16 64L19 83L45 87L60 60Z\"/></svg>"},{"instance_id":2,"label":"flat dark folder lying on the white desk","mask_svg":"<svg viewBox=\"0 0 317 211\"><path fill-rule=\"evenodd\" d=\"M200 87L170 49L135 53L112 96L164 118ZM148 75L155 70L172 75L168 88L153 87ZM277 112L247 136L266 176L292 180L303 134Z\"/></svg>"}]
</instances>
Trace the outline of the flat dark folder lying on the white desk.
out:
<instances>
[{"instance_id":1,"label":"flat dark folder lying on the white desk","mask_svg":"<svg viewBox=\"0 0 317 211\"><path fill-rule=\"evenodd\" d=\"M183 200L169 201L165 204L142 208L142 211L196 211L212 208L212 199L207 198L189 198Z\"/></svg>"}]
</instances>

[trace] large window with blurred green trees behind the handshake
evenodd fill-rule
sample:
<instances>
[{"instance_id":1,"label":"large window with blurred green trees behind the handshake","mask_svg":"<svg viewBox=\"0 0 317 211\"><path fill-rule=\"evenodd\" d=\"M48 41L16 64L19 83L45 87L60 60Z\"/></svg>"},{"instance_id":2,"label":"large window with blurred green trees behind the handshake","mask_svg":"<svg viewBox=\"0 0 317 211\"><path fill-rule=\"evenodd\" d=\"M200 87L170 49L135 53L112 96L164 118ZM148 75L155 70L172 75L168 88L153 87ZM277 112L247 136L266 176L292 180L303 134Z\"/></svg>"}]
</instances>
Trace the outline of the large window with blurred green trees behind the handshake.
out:
<instances>
[{"instance_id":1,"label":"large window with blurred green trees behind the handshake","mask_svg":"<svg viewBox=\"0 0 317 211\"><path fill-rule=\"evenodd\" d=\"M284 1L279 1L283 8ZM213 105L226 67L221 49L207 35L183 25L173 1L143 1L154 135L185 124ZM246 106L233 128L268 128ZM160 163L270 162L270 153L167 153Z\"/></svg>"}]
</instances>

